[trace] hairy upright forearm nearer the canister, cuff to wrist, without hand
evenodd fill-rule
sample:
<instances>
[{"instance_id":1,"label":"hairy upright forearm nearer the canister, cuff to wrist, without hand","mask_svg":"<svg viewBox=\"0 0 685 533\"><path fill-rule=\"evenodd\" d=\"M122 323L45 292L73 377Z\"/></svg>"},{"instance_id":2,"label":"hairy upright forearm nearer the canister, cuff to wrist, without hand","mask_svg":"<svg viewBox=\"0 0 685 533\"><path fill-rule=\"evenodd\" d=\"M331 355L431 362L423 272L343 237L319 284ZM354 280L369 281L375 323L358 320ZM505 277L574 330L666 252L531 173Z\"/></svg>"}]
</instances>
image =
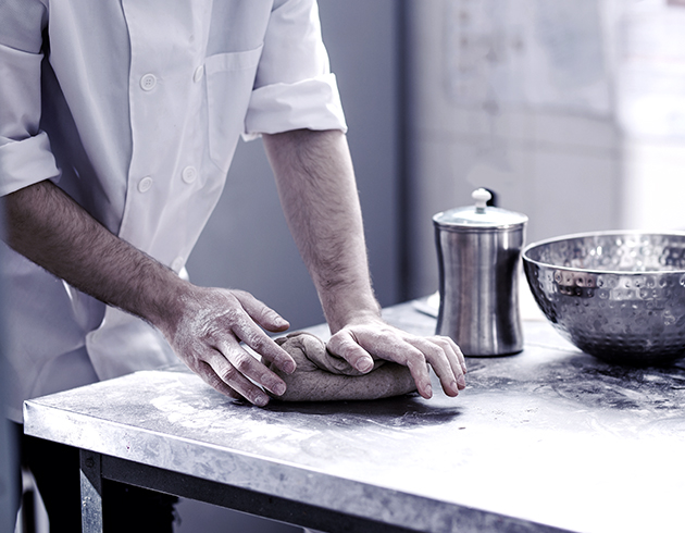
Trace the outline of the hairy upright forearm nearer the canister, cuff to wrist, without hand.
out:
<instances>
[{"instance_id":1,"label":"hairy upright forearm nearer the canister, cuff to wrist, without hand","mask_svg":"<svg viewBox=\"0 0 685 533\"><path fill-rule=\"evenodd\" d=\"M264 136L295 241L335 332L378 314L371 287L354 172L341 132Z\"/></svg>"}]
</instances>

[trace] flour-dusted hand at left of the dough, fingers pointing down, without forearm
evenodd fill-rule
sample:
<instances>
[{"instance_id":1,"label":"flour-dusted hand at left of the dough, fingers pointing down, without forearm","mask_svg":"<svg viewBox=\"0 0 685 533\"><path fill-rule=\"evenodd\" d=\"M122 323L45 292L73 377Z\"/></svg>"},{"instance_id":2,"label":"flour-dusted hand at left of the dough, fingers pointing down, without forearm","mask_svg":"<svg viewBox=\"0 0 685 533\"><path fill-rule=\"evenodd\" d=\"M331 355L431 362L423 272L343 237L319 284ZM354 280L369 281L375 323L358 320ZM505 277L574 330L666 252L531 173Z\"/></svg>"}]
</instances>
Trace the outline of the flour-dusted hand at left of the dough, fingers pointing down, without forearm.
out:
<instances>
[{"instance_id":1,"label":"flour-dusted hand at left of the dough, fingers pointing down, without forearm","mask_svg":"<svg viewBox=\"0 0 685 533\"><path fill-rule=\"evenodd\" d=\"M262 330L283 332L289 327L288 322L244 290L190 287L169 313L171 324L155 324L176 355L212 387L233 398L265 406L269 396L256 383L276 396L283 395L284 381L240 343L292 373L295 360Z\"/></svg>"}]
</instances>

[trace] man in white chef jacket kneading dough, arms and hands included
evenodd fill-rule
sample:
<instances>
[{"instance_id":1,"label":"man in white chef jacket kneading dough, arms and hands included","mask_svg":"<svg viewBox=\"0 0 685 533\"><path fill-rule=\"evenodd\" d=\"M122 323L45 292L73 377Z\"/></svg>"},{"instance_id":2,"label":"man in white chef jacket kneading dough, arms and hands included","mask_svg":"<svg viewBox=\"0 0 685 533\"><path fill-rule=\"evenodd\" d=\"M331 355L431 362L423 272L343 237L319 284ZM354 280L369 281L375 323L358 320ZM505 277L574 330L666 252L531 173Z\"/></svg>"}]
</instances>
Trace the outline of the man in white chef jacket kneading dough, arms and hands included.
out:
<instances>
[{"instance_id":1,"label":"man in white chef jacket kneading dough, arms and hands included","mask_svg":"<svg viewBox=\"0 0 685 533\"><path fill-rule=\"evenodd\" d=\"M379 318L314 0L4 0L0 80L16 422L26 398L175 357L231 397L282 394L239 343L292 372L264 332L286 320L184 269L241 134L263 137L329 350L404 364L426 398L426 363L465 386L451 340Z\"/></svg>"}]
</instances>

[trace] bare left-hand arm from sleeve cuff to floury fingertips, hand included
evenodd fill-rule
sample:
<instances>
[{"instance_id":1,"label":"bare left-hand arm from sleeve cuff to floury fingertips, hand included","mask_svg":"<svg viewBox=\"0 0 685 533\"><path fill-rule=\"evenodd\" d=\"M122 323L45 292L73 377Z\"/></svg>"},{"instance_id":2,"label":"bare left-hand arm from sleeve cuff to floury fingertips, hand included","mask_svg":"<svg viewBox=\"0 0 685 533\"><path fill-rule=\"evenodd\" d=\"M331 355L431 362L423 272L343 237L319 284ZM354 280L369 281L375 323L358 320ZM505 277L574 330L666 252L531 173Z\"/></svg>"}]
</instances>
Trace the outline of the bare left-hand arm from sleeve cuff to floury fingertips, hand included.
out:
<instances>
[{"instance_id":1,"label":"bare left-hand arm from sleeve cuff to floury fingertips, hand included","mask_svg":"<svg viewBox=\"0 0 685 533\"><path fill-rule=\"evenodd\" d=\"M17 252L79 290L157 326L176 355L219 392L263 406L285 383L240 342L284 372L295 361L262 330L289 327L240 290L202 288L110 233L53 183L3 198L3 238Z\"/></svg>"}]
</instances>

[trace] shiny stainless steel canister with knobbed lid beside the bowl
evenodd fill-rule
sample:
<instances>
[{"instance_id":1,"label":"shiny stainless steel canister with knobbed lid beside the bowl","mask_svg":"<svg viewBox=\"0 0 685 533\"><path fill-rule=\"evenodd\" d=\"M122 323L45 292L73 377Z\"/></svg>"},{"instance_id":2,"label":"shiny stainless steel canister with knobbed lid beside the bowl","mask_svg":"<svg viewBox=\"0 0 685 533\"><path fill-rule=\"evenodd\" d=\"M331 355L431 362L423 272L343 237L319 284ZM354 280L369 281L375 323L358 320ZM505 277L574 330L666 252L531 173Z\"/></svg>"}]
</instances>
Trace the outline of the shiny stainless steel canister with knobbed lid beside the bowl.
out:
<instances>
[{"instance_id":1,"label":"shiny stainless steel canister with knobbed lid beside the bowl","mask_svg":"<svg viewBox=\"0 0 685 533\"><path fill-rule=\"evenodd\" d=\"M519 311L519 264L528 218L487 206L433 218L440 274L436 333L451 337L465 356L503 356L523 349Z\"/></svg>"}]
</instances>

